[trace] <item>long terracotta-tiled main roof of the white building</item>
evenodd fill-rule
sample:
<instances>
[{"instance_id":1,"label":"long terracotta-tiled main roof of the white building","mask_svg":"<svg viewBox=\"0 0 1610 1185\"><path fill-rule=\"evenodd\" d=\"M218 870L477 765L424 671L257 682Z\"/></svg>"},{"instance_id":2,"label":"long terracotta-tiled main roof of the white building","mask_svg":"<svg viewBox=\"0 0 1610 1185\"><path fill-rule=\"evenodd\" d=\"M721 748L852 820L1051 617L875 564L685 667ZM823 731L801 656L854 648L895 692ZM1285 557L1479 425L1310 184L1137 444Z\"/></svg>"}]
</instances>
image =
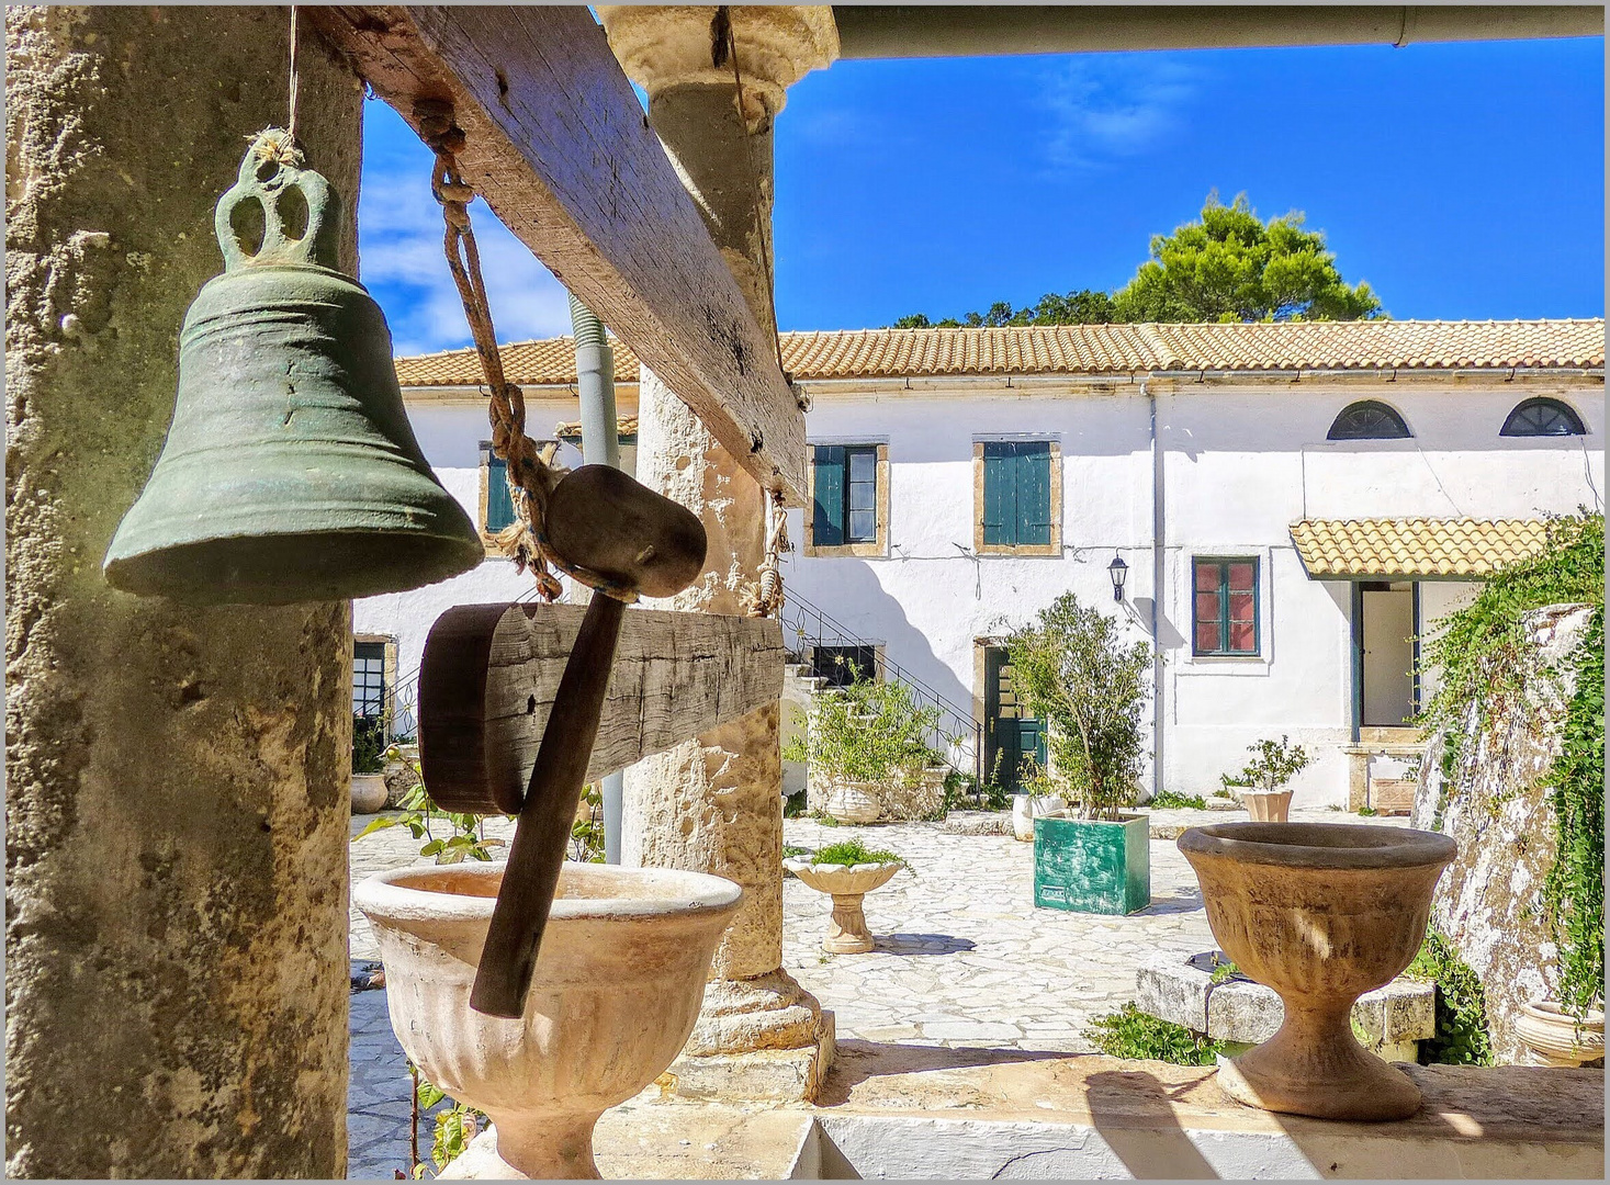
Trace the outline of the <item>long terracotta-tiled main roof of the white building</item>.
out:
<instances>
[{"instance_id":1,"label":"long terracotta-tiled main roof of the white building","mask_svg":"<svg viewBox=\"0 0 1610 1185\"><path fill-rule=\"evenodd\" d=\"M1602 367L1605 322L1340 320L1254 325L1026 325L857 328L782 333L797 380L943 375L1100 375L1137 370L1439 370ZM502 348L522 385L576 382L570 338ZM399 357L404 386L477 386L472 349ZM615 378L638 382L638 356L615 343Z\"/></svg>"}]
</instances>

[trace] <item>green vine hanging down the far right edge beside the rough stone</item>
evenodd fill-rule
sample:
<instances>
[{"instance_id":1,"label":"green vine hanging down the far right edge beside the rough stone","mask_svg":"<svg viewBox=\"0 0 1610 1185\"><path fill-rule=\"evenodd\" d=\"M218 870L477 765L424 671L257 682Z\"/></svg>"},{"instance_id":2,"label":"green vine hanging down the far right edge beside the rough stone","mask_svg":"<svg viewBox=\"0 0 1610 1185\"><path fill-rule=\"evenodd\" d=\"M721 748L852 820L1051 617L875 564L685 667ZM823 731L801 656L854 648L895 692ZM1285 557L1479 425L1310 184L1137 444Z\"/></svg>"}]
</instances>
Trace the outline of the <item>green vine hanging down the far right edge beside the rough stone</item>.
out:
<instances>
[{"instance_id":1,"label":"green vine hanging down the far right edge beside the rough stone","mask_svg":"<svg viewBox=\"0 0 1610 1185\"><path fill-rule=\"evenodd\" d=\"M1560 948L1560 1003L1576 1018L1605 993L1605 613L1576 652L1563 745L1549 768L1557 850L1542 900Z\"/></svg>"}]
</instances>

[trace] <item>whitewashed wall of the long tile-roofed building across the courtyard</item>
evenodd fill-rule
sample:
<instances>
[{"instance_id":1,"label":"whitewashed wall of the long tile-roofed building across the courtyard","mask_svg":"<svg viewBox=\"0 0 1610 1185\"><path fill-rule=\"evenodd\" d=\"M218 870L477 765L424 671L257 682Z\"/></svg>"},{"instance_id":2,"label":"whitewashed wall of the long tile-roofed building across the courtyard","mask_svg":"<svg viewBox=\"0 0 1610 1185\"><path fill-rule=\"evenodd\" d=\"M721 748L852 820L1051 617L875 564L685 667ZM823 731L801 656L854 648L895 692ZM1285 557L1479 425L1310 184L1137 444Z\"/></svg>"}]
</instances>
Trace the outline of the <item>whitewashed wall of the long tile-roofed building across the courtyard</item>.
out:
<instances>
[{"instance_id":1,"label":"whitewashed wall of the long tile-roofed building across the courtyard","mask_svg":"<svg viewBox=\"0 0 1610 1185\"><path fill-rule=\"evenodd\" d=\"M1021 380L1019 380L1021 383ZM808 385L808 438L887 443L889 535L882 559L784 560L792 594L853 634L881 642L894 662L952 702L974 699L974 639L1027 621L1064 591L1124 615L1150 633L1153 589L1153 454L1150 406L1138 383L1101 393L1071 383L932 382L924 390ZM1164 786L1211 794L1238 770L1246 745L1290 734L1317 760L1296 782L1298 803L1346 800L1341 747L1351 733L1349 588L1307 578L1291 546L1299 518L1534 517L1602 509L1602 386L1447 380L1428 386L1356 380L1325 383L1153 383L1164 457L1164 581L1159 641L1164 673ZM528 393L530 398L531 393ZM1505 440L1499 427L1523 398L1565 398L1586 438ZM1407 441L1327 443L1336 414L1375 398L1415 433ZM572 398L530 398L533 428L576 419ZM631 398L621 414L631 414ZM438 477L472 514L480 494L485 401L411 399L420 444ZM1063 555L972 554L972 441L1053 438L1063 451ZM565 449L567 464L580 464ZM789 531L803 539L792 512ZM1125 602L1113 601L1108 564L1129 564ZM1190 559L1259 555L1261 655L1190 654ZM354 628L399 639L399 671L419 665L425 633L452 604L509 601L530 589L507 560L412 592L357 602ZM1426 583L1426 623L1468 597L1470 586ZM1150 720L1150 712L1148 712ZM1150 778L1150 774L1148 774Z\"/></svg>"}]
</instances>

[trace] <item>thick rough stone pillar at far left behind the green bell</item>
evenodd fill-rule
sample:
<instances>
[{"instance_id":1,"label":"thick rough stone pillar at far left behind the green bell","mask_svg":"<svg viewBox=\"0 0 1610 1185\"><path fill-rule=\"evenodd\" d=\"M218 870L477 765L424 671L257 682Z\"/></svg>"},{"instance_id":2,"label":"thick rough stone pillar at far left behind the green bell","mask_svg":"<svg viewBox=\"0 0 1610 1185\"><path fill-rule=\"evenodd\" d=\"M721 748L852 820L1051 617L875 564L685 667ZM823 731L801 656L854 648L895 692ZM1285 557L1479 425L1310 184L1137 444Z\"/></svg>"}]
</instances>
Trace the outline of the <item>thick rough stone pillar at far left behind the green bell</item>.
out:
<instances>
[{"instance_id":1,"label":"thick rough stone pillar at far left behind the green bell","mask_svg":"<svg viewBox=\"0 0 1610 1185\"><path fill-rule=\"evenodd\" d=\"M5 16L6 1175L343 1177L351 605L101 578L290 14ZM362 93L299 66L351 267Z\"/></svg>"}]
</instances>

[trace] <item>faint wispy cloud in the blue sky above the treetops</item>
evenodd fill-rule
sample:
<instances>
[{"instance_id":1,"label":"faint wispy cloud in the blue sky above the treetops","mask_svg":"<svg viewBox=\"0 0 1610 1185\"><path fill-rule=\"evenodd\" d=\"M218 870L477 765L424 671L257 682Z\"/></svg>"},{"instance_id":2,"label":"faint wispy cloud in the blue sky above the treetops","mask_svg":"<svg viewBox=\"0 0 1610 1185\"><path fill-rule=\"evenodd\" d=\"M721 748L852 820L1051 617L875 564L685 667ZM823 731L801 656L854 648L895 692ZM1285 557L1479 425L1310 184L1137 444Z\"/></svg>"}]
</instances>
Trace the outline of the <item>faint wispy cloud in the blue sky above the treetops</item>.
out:
<instances>
[{"instance_id":1,"label":"faint wispy cloud in the blue sky above the treetops","mask_svg":"<svg viewBox=\"0 0 1610 1185\"><path fill-rule=\"evenodd\" d=\"M1179 122L1201 71L1150 55L1093 55L1043 77L1042 106L1053 119L1050 164L1096 169L1154 145Z\"/></svg>"}]
</instances>

